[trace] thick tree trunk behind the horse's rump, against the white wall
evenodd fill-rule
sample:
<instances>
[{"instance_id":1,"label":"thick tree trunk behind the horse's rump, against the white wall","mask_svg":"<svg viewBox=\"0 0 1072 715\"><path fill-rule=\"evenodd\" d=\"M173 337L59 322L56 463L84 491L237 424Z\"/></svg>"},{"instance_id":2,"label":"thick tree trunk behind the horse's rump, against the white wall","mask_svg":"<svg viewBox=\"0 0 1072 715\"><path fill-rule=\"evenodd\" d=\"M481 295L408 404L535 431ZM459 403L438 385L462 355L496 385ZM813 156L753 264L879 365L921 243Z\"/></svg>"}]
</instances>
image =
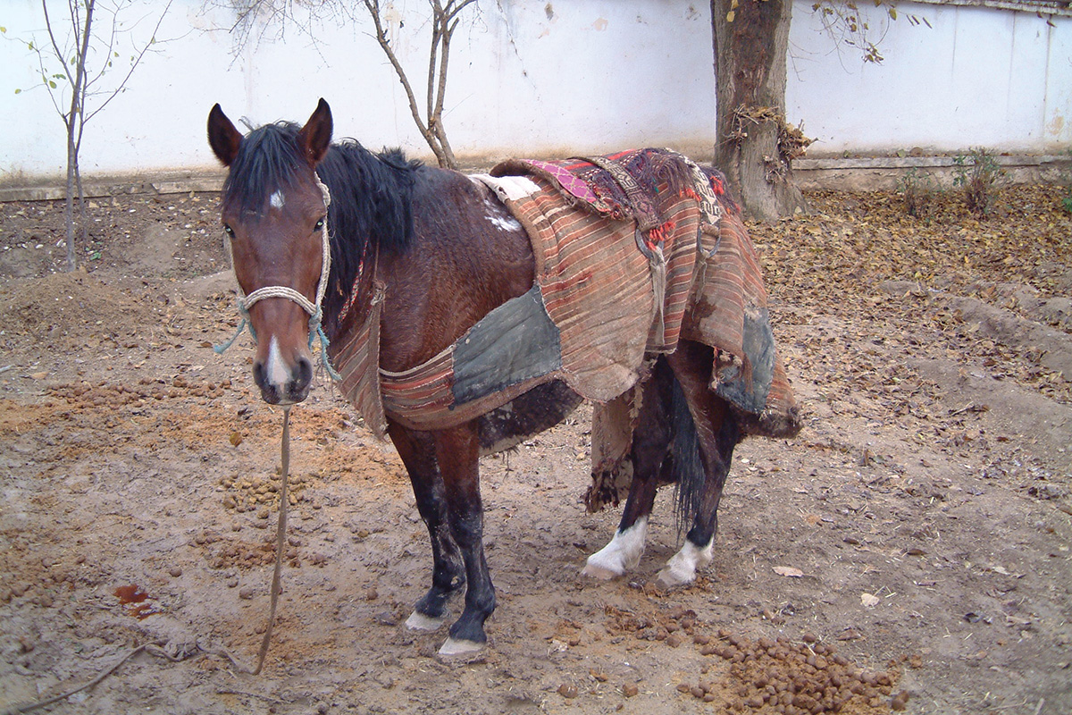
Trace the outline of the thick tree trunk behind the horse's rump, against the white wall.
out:
<instances>
[{"instance_id":1,"label":"thick tree trunk behind the horse's rump, against the white wall","mask_svg":"<svg viewBox=\"0 0 1072 715\"><path fill-rule=\"evenodd\" d=\"M718 131L715 166L740 192L745 209L761 221L775 221L804 208L790 165L800 147L779 141L786 136L791 13L792 0L711 0Z\"/></svg>"}]
</instances>

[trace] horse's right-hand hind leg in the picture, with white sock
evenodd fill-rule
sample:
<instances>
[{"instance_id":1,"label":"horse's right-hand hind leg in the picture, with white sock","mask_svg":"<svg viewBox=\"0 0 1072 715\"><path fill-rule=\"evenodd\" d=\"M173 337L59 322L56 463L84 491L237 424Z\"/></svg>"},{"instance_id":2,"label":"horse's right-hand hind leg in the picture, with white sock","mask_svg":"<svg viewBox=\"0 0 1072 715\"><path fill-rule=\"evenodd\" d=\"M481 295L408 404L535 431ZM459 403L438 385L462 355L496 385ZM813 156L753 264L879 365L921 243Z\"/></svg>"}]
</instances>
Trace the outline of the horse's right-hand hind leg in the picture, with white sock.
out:
<instances>
[{"instance_id":1,"label":"horse's right-hand hind leg in the picture, with white sock","mask_svg":"<svg viewBox=\"0 0 1072 715\"><path fill-rule=\"evenodd\" d=\"M696 512L685 543L658 574L659 584L666 587L689 583L696 578L697 568L711 563L718 531L718 503L733 448L741 440L740 427L729 405L709 387L712 359L712 348L688 341L682 341L678 351L668 356L696 424L704 479L694 502Z\"/></svg>"}]
</instances>

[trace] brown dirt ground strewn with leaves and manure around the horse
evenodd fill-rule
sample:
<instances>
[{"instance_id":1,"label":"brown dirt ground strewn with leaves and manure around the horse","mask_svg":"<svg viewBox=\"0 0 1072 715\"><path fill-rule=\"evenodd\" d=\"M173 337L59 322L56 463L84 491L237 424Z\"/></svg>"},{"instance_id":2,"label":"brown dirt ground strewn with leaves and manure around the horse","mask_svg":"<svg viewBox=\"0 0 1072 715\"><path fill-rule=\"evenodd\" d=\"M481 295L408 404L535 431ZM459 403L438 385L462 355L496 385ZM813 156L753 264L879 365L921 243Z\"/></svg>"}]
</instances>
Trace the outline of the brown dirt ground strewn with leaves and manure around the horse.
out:
<instances>
[{"instance_id":1,"label":"brown dirt ground strewn with leaves and manure around the horse","mask_svg":"<svg viewBox=\"0 0 1072 715\"><path fill-rule=\"evenodd\" d=\"M754 226L806 427L741 445L714 563L679 545L582 579L591 409L481 463L498 608L478 657L403 625L427 533L393 449L322 377L294 409L267 617L281 414L262 403L208 194L0 207L0 710L53 713L1072 712L1072 221L1061 190L812 194ZM458 606L455 605L457 613ZM234 658L234 660L232 659ZM904 692L905 695L899 695ZM828 710L822 710L823 706ZM779 710L780 709L780 710Z\"/></svg>"}]
</instances>

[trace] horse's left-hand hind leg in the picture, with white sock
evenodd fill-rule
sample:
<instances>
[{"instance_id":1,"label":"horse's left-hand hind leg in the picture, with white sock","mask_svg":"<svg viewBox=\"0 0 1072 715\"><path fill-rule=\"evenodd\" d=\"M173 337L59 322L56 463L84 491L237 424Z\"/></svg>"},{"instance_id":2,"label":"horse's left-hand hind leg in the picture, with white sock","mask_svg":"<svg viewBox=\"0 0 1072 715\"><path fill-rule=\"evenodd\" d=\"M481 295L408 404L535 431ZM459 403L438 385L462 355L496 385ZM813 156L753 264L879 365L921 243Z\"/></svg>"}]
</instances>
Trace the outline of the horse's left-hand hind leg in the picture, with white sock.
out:
<instances>
[{"instance_id":1,"label":"horse's left-hand hind leg in the picture, with white sock","mask_svg":"<svg viewBox=\"0 0 1072 715\"><path fill-rule=\"evenodd\" d=\"M622 510L622 521L610 542L589 556L581 571L597 579L613 579L636 568L644 552L647 517L655 503L659 473L667 466L671 438L669 415L665 409L673 375L660 359L643 388L640 415L632 435L630 459L634 465L629 497Z\"/></svg>"}]
</instances>

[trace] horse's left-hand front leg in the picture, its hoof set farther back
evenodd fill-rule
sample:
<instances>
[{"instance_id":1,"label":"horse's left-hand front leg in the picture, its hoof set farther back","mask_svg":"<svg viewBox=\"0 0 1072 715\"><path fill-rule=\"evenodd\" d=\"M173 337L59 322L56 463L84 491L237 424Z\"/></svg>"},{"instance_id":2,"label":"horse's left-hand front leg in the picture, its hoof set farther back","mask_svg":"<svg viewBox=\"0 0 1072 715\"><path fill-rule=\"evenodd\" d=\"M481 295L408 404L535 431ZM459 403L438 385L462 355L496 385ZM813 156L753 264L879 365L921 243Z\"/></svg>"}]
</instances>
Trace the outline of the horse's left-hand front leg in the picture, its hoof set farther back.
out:
<instances>
[{"instance_id":1,"label":"horse's left-hand front leg in the picture, its hoof set farther back","mask_svg":"<svg viewBox=\"0 0 1072 715\"><path fill-rule=\"evenodd\" d=\"M393 422L388 432L410 473L417 510L432 542L432 585L414 606L405 625L414 630L436 630L446 621L447 600L465 585L465 566L447 522L435 442L428 432L415 432Z\"/></svg>"}]
</instances>

